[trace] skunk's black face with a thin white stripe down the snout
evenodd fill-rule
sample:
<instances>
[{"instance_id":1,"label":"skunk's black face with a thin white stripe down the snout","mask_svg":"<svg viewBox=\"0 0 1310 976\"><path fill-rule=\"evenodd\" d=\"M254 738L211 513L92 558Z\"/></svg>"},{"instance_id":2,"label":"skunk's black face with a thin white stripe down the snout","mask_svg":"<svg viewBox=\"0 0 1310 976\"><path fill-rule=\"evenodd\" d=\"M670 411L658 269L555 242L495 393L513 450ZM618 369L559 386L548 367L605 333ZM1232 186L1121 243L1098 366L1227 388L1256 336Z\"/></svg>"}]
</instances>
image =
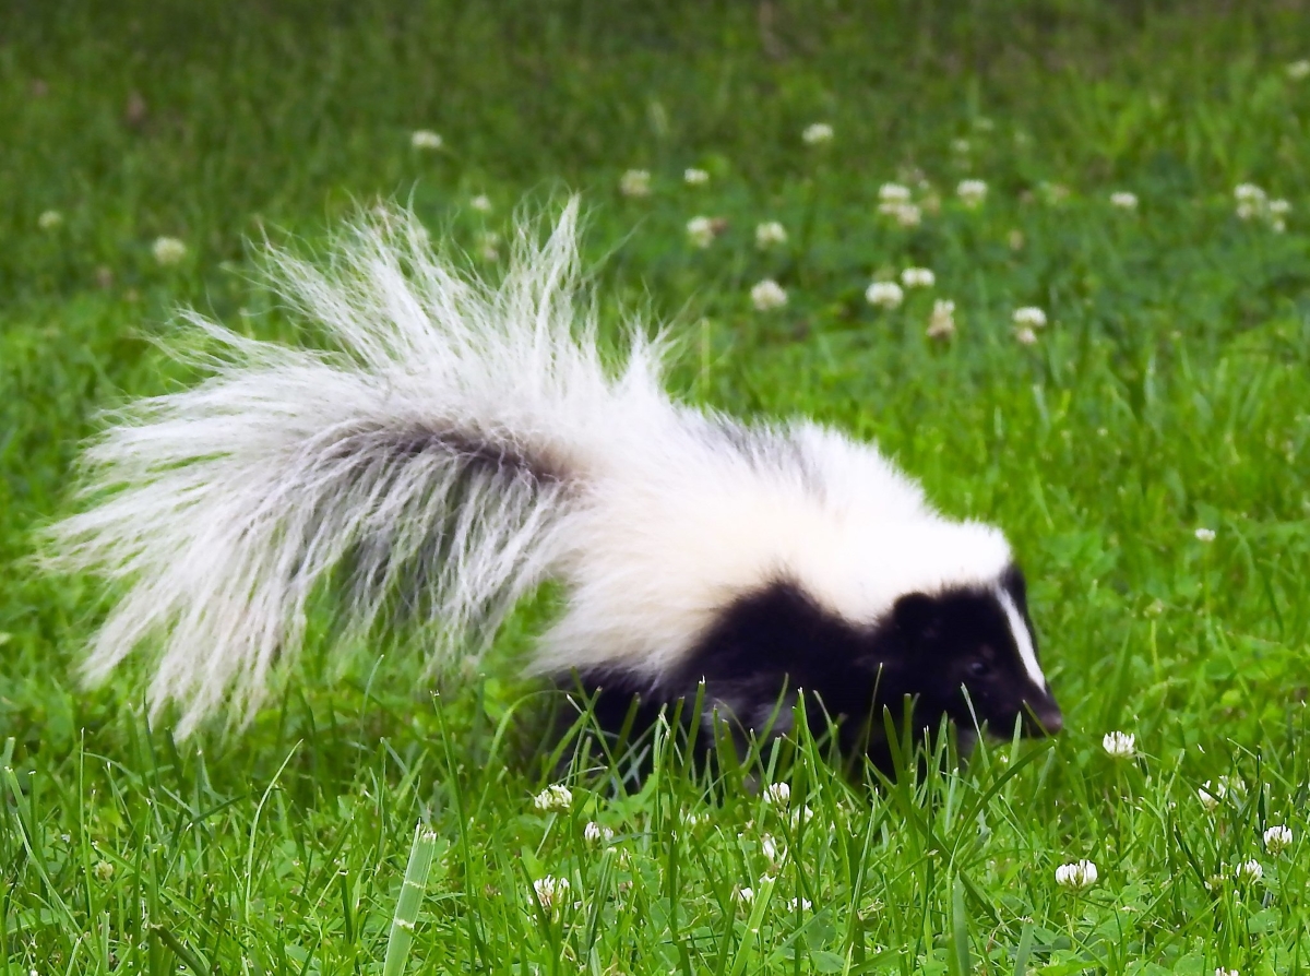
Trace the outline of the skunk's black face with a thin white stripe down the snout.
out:
<instances>
[{"instance_id":1,"label":"skunk's black face with a thin white stripe down the snout","mask_svg":"<svg viewBox=\"0 0 1310 976\"><path fill-rule=\"evenodd\" d=\"M998 736L1017 723L1024 735L1055 735L1064 726L1038 663L1017 569L994 587L901 597L879 639L896 651L888 666L917 697L921 726L943 715Z\"/></svg>"}]
</instances>

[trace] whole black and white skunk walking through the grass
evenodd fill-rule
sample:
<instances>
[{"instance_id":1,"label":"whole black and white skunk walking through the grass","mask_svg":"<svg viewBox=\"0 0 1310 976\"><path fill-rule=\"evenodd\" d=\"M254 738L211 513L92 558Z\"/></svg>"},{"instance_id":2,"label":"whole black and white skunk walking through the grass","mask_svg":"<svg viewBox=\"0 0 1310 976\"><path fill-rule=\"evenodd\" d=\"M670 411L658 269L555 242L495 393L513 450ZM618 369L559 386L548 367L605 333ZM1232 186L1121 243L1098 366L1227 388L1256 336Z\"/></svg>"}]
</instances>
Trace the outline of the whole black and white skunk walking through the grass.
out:
<instances>
[{"instance_id":1,"label":"whole black and white skunk walking through the grass","mask_svg":"<svg viewBox=\"0 0 1310 976\"><path fill-rule=\"evenodd\" d=\"M553 578L566 604L531 669L603 717L698 700L764 731L781 702L777 731L803 694L850 745L907 700L918 730L1058 731L1001 532L943 517L872 445L672 402L639 329L607 368L575 224L572 203L544 244L520 228L496 286L402 212L326 267L274 253L331 351L189 314L224 348L212 375L128 407L85 455L89 507L51 532L54 563L121 587L88 676L161 643L151 714L178 705L185 736L249 719L325 579L348 578L355 637L422 592L449 662Z\"/></svg>"}]
</instances>

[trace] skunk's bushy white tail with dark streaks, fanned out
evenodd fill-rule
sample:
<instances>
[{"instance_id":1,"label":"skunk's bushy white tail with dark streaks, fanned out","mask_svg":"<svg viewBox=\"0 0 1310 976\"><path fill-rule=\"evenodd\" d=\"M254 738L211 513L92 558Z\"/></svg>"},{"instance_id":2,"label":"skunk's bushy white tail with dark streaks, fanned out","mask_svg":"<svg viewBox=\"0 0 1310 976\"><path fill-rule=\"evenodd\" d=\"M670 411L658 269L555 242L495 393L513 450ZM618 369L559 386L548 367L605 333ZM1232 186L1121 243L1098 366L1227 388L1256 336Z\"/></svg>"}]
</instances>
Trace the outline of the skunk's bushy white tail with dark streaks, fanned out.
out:
<instances>
[{"instance_id":1,"label":"skunk's bushy white tail with dark streaks, fanned out","mask_svg":"<svg viewBox=\"0 0 1310 976\"><path fill-rule=\"evenodd\" d=\"M172 701L183 736L219 710L241 723L338 567L346 633L421 593L436 660L477 652L569 559L605 464L597 421L669 406L639 330L622 369L603 366L576 217L574 200L545 242L520 225L496 286L435 255L401 211L356 223L325 267L272 252L278 292L329 351L186 314L221 348L210 377L118 414L85 453L85 510L50 531L51 563L122 590L88 677L157 642L152 718Z\"/></svg>"}]
</instances>

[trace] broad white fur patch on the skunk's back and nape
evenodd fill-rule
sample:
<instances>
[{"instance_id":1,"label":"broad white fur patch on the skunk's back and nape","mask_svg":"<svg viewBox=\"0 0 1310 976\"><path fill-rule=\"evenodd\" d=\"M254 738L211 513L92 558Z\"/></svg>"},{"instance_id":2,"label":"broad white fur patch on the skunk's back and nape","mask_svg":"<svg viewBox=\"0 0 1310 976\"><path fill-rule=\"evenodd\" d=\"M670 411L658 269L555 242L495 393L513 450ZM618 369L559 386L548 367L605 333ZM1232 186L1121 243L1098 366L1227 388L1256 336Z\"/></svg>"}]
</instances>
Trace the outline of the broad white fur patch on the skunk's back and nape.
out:
<instances>
[{"instance_id":1,"label":"broad white fur patch on the skunk's back and nape","mask_svg":"<svg viewBox=\"0 0 1310 976\"><path fill-rule=\"evenodd\" d=\"M779 579L872 622L905 593L993 586L1010 563L997 529L943 519L872 445L680 407L654 419L610 430L614 462L574 523L569 609L534 671L659 677L719 610Z\"/></svg>"}]
</instances>

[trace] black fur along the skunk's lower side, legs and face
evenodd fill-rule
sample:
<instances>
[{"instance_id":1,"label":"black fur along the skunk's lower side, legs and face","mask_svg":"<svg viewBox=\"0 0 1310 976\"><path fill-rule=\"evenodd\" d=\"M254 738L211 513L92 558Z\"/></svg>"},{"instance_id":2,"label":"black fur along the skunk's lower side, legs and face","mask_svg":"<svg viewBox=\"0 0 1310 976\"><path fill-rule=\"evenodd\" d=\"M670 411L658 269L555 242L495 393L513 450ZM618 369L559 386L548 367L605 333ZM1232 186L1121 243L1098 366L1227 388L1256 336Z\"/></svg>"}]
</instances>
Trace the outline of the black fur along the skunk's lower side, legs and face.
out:
<instances>
[{"instance_id":1,"label":"black fur along the skunk's lower side, legs and face","mask_svg":"<svg viewBox=\"0 0 1310 976\"><path fill-rule=\"evenodd\" d=\"M1022 574L1011 569L1001 584L1031 633ZM610 734L639 732L679 702L690 715L698 693L706 731L717 713L740 735L779 734L804 696L816 735L832 721L848 759L863 753L886 773L893 764L884 709L899 723L908 707L920 738L943 718L962 739L976 727L1010 735L1018 722L1024 735L1043 735L1062 724L1049 689L1028 679L1005 610L985 588L912 593L883 620L859 626L779 580L727 608L677 672L654 686L621 672L583 673L579 681Z\"/></svg>"}]
</instances>

